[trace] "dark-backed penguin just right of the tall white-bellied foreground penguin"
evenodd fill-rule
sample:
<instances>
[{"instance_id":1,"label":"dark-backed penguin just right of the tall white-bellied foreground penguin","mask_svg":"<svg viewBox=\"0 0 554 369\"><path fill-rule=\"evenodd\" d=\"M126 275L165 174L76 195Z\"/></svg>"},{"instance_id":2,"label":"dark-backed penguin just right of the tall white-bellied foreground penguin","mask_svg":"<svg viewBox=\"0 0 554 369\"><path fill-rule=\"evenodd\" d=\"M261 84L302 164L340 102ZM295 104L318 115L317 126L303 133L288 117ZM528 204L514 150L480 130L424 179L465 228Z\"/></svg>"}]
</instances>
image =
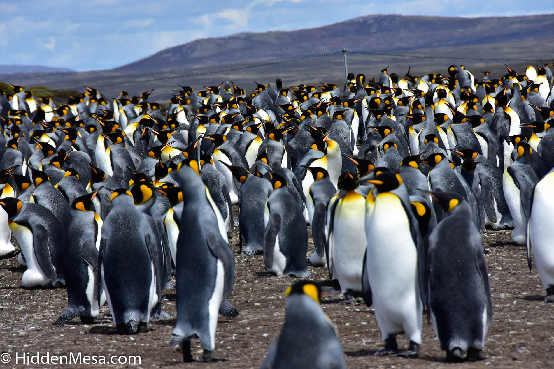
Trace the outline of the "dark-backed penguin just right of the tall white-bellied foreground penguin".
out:
<instances>
[{"instance_id":1,"label":"dark-backed penguin just right of the tall white-bellied foreground penguin","mask_svg":"<svg viewBox=\"0 0 554 369\"><path fill-rule=\"evenodd\" d=\"M493 315L481 233L459 194L425 191L445 216L429 235L425 276L430 319L449 360L478 360Z\"/></svg>"}]
</instances>

